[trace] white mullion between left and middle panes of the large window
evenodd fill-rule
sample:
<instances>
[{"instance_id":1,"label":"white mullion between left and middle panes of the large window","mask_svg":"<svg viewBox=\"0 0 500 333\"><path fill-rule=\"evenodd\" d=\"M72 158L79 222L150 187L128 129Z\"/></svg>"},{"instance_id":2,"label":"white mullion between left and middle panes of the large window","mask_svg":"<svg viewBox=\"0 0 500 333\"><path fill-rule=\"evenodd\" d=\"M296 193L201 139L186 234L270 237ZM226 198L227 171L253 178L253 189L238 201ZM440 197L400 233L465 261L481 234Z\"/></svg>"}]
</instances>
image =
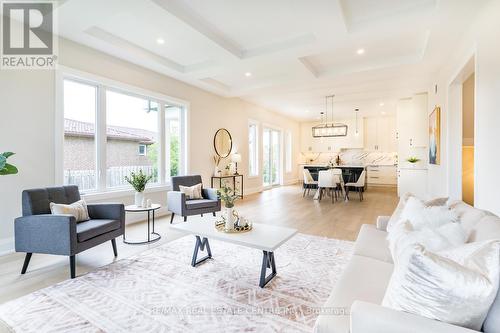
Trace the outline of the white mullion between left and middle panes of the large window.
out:
<instances>
[{"instance_id":1,"label":"white mullion between left and middle panes of the large window","mask_svg":"<svg viewBox=\"0 0 500 333\"><path fill-rule=\"evenodd\" d=\"M97 189L106 190L106 88L98 87L96 112L96 161L97 161Z\"/></svg>"}]
</instances>

